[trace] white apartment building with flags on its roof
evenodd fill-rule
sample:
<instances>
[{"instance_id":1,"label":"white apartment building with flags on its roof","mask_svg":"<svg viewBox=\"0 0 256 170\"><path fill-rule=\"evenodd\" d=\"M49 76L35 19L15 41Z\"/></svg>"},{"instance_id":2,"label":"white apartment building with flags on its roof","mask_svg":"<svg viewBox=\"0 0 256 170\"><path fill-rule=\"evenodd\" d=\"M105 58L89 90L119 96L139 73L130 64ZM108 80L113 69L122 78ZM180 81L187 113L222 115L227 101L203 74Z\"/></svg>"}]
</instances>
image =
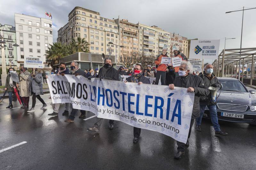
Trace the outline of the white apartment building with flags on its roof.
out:
<instances>
[{"instance_id":1,"label":"white apartment building with flags on its roof","mask_svg":"<svg viewBox=\"0 0 256 170\"><path fill-rule=\"evenodd\" d=\"M15 27L17 65L23 65L24 56L43 57L45 61L45 51L52 44L52 20L15 13Z\"/></svg>"}]
</instances>

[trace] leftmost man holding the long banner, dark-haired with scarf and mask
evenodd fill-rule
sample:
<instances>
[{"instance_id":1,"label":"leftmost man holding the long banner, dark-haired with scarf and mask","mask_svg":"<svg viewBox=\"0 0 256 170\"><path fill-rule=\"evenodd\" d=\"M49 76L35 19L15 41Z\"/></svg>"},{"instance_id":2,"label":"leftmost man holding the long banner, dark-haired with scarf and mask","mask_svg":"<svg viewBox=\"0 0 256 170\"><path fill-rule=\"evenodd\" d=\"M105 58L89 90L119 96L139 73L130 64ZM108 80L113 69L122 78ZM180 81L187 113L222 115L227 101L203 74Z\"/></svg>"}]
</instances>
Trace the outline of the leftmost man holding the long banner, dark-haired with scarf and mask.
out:
<instances>
[{"instance_id":1,"label":"leftmost man holding the long banner, dark-haired with scarf and mask","mask_svg":"<svg viewBox=\"0 0 256 170\"><path fill-rule=\"evenodd\" d=\"M68 70L68 68L66 68L66 63L61 62L59 69L56 71L56 75L64 76L65 74L69 74L69 70ZM46 75L46 78L48 78L47 75ZM70 105L71 105L70 103L65 103L65 110L62 113L62 115L68 115ZM59 109L60 109L60 103L53 104L53 112L48 115L49 116L58 116Z\"/></svg>"}]
</instances>

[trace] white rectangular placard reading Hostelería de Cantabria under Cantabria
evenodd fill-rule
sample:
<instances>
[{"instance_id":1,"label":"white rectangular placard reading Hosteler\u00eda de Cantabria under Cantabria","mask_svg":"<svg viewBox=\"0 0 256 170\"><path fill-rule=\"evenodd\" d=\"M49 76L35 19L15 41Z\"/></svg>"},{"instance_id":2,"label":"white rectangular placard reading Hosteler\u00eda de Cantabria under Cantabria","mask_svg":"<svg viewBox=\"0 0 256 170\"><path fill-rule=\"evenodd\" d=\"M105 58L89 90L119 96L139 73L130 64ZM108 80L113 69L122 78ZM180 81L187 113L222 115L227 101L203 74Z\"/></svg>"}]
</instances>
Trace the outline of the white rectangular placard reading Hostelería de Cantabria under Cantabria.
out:
<instances>
[{"instance_id":1,"label":"white rectangular placard reading Hosteler\u00eda de Cantabria under Cantabria","mask_svg":"<svg viewBox=\"0 0 256 170\"><path fill-rule=\"evenodd\" d=\"M189 49L190 59L212 59L219 55L220 40L191 40Z\"/></svg>"}]
</instances>

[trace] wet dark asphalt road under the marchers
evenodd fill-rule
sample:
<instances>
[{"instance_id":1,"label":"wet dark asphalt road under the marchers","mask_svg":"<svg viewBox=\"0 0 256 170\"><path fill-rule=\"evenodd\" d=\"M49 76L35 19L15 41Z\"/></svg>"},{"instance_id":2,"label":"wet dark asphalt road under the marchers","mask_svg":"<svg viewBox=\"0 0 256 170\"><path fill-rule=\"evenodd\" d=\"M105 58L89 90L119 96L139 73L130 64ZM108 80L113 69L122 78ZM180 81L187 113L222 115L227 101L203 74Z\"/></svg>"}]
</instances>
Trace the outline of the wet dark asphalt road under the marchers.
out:
<instances>
[{"instance_id":1,"label":"wet dark asphalt road under the marchers","mask_svg":"<svg viewBox=\"0 0 256 170\"><path fill-rule=\"evenodd\" d=\"M142 129L138 144L133 144L133 128L108 121L100 133L88 131L95 118L64 122L63 105L59 116L52 113L50 94L42 95L45 109L37 100L36 111L25 113L14 102L6 109L8 99L0 103L0 150L26 141L27 143L0 153L0 169L255 169L256 126L222 122L225 137L212 137L212 123L203 119L202 131L192 128L190 146L177 160L176 142L158 132ZM30 101L31 104L32 101ZM86 118L93 116L87 112Z\"/></svg>"}]
</instances>

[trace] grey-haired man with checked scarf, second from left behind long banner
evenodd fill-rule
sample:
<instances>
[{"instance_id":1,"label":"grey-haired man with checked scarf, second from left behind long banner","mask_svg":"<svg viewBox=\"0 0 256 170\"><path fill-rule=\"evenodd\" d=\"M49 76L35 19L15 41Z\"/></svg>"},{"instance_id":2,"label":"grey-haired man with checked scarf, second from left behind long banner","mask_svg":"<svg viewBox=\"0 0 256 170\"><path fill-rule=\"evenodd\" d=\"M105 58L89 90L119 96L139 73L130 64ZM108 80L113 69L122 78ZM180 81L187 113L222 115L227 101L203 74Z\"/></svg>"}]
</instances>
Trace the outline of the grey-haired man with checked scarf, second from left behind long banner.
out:
<instances>
[{"instance_id":1,"label":"grey-haired man with checked scarf, second from left behind long banner","mask_svg":"<svg viewBox=\"0 0 256 170\"><path fill-rule=\"evenodd\" d=\"M85 78L87 78L86 73L83 70L79 69L79 64L77 62L72 62L70 64L70 70L71 70L70 74L72 74L72 75L75 75L75 76L80 75L80 76L84 76ZM71 111L68 119L65 120L65 122L69 122L69 123L74 122L75 115L76 115L77 111L78 111L78 109L72 108L72 111ZM79 116L79 118L85 117L85 113L86 113L85 110L80 110L80 112L81 112L81 115Z\"/></svg>"}]
</instances>

